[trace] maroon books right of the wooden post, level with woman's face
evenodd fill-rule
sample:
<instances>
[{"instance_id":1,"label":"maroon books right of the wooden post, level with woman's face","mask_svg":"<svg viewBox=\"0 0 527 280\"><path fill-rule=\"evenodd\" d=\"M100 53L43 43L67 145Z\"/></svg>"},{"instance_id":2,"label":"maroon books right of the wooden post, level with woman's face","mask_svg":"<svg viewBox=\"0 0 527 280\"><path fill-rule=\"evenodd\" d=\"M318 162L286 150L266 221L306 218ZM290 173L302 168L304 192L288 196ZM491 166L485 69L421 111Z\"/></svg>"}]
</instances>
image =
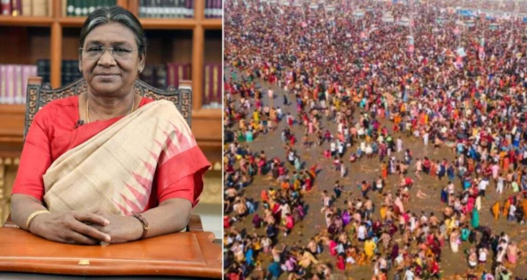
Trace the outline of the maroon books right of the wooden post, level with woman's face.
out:
<instances>
[{"instance_id":1,"label":"maroon books right of the wooden post, level with woman's face","mask_svg":"<svg viewBox=\"0 0 527 280\"><path fill-rule=\"evenodd\" d=\"M221 106L222 69L221 63L206 63L204 65L203 104L209 104L212 107Z\"/></svg>"}]
</instances>

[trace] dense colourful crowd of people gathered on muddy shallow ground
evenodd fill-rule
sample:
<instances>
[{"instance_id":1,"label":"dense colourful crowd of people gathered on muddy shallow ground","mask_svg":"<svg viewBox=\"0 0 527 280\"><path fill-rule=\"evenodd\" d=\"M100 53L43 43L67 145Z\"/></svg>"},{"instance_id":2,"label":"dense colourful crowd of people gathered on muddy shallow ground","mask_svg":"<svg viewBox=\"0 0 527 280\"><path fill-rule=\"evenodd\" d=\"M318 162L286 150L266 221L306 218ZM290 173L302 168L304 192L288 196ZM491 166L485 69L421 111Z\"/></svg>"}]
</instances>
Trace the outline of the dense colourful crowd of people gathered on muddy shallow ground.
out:
<instances>
[{"instance_id":1,"label":"dense colourful crowd of people gathered on muddy shallow ground","mask_svg":"<svg viewBox=\"0 0 527 280\"><path fill-rule=\"evenodd\" d=\"M226 279L527 278L527 24L288 3L225 6Z\"/></svg>"}]
</instances>

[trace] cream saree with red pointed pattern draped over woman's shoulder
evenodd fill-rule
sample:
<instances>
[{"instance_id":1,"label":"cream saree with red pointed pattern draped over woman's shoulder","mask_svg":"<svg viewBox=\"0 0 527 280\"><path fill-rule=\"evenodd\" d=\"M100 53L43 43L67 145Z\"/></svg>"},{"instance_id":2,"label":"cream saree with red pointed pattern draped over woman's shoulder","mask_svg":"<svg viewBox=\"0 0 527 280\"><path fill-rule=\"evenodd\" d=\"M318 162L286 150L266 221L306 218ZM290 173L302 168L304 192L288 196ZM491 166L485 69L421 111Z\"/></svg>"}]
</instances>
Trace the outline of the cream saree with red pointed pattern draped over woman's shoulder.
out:
<instances>
[{"instance_id":1,"label":"cream saree with red pointed pattern draped over woman's shoulder","mask_svg":"<svg viewBox=\"0 0 527 280\"><path fill-rule=\"evenodd\" d=\"M155 101L58 157L43 176L44 202L51 212L141 213L154 184L167 188L209 166L174 104Z\"/></svg>"}]
</instances>

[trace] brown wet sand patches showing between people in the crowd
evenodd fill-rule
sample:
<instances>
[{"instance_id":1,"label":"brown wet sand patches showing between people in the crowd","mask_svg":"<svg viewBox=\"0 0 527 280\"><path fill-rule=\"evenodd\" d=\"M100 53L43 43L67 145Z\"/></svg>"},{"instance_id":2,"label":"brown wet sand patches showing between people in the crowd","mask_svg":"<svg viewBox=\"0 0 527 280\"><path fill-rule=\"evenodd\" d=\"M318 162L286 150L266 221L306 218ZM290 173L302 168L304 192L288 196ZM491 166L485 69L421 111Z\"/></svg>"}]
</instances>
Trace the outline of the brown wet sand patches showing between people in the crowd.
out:
<instances>
[{"instance_id":1,"label":"brown wet sand patches showing between people in the crowd","mask_svg":"<svg viewBox=\"0 0 527 280\"><path fill-rule=\"evenodd\" d=\"M226 77L230 77L230 72L227 71L227 69L225 71L225 75L229 75ZM240 73L238 73L238 77L239 76ZM281 106L282 113L284 113L284 115L286 115L287 113L291 113L291 115L295 117L297 116L295 107L296 105L293 95L288 95L290 105L283 106L282 95L285 94L283 89L278 88L278 86L276 85L270 85L269 83L262 82L259 80L257 80L257 84L261 85L261 87L265 90L266 93L269 87L273 89L275 93L275 98L273 101L274 106ZM233 96L233 98L239 98L239 96ZM269 98L267 97L267 94L264 94L264 104L269 104ZM251 112L253 109L254 107L251 108ZM435 159L441 160L443 158L446 158L448 162L451 162L455 157L454 152L451 148L443 146L440 151L434 153L434 147L430 143L427 147L425 147L421 139L417 139L414 137L410 138L403 133L393 134L391 129L392 125L389 125L389 121L387 119L380 119L379 121L383 125L386 125L386 127L388 127L389 133L395 139L398 136L401 136L401 139L403 140L403 150L409 148L413 153L414 160L412 161L411 166L409 167L408 175L409 177L412 177L414 179L415 184L410 191L410 201L404 205L405 209L409 209L411 212L417 215L419 215L421 211L425 211L426 213L434 212L436 216L441 217L443 209L445 207L445 205L441 203L440 199L441 188L447 184L448 178L443 177L442 181L439 181L435 177L430 177L426 174L422 174L422 179L418 179L414 174L415 168L413 167L413 164L415 164L415 158L423 158L424 156L428 156L430 159L434 159L434 161ZM258 135L257 137L255 137L255 140L252 143L240 144L241 146L248 145L253 153L264 150L266 152L267 158L278 156L281 161L285 161L285 151L283 148L284 144L281 143L280 133L282 129L284 129L286 126L288 125L285 123L284 119L282 119L282 121L278 124L278 127L275 132L269 132L266 135ZM304 134L304 129L304 127L295 124L291 131L295 134L297 139L300 139L301 136ZM337 130L336 125L334 125L332 122L323 122L321 130L324 132L326 129L329 129L331 134L334 135ZM309 141L314 142L315 135L310 135ZM313 189L311 189L309 193L304 195L305 204L308 206L306 212L307 214L304 220L295 225L293 231L289 236L284 237L282 232L280 232L278 234L278 244L284 243L288 245L300 242L301 245L307 245L309 238L315 236L315 234L319 232L319 229L324 229L326 227L323 214L320 213L321 192L327 190L328 193L333 194L333 185L336 180L339 180L340 184L344 185L345 191L350 193L343 193L343 195L341 195L341 197L338 198L334 204L337 206L337 208L344 209L344 201L346 201L347 199L355 199L362 197L362 194L357 188L357 181L367 180L371 182L374 178L377 178L380 175L380 162L378 156L376 156L372 159L366 159L365 157L363 157L357 162L350 164L348 160L350 153L349 151L350 149L353 151L357 149L357 143L355 143L354 146L348 148L346 154L342 158L345 166L347 167L347 176L345 178L340 178L340 173L336 172L333 168L332 159L326 159L323 157L324 148L329 148L329 144L324 143L321 147L313 146L311 148L304 149L302 148L301 143L297 141L293 148L296 149L297 153L300 155L300 160L302 162L305 162L305 166L307 168L309 168L315 163L318 163L318 169L320 169L320 172L317 175ZM392 156L395 156L397 159L402 160L404 158L404 153L392 153ZM291 165L289 164L286 164L286 166L289 168L289 170L294 169L294 167L291 167ZM389 189L392 191L392 193L395 194L398 188L398 183L398 175L388 175L388 179L386 180L385 191ZM271 183L271 181L265 181L262 176L256 176L252 184L243 189L243 193L246 195L246 197L253 198L254 201L259 201L261 190L267 189L271 186L279 188L278 184ZM457 191L460 189L460 181L457 178L455 181L455 186L457 193ZM417 198L417 189L421 189L422 192L426 193L427 195L430 195L430 198ZM504 231L505 233L509 234L512 241L519 244L519 248L521 249L521 251L527 252L527 235L525 235L525 233L527 232L527 225L520 225L516 222L507 222L506 218L503 216L500 216L497 221L494 221L494 218L490 213L490 207L497 199L503 201L503 199L510 196L511 194L511 191L506 191L501 195L496 194L496 192L494 191L494 184L491 183L491 185L487 188L486 199L482 200L482 211L480 212L480 225L489 226L490 228L492 228L493 234ZM373 219L380 218L378 211L378 207L380 207L380 196L376 192L369 192L368 196L372 198L372 201L374 202L376 207ZM261 206L258 207L256 213L258 213L260 216L264 213ZM239 230L245 228L247 233L256 232L260 236L265 235L264 228L253 228L251 224L252 216L253 214L247 216L245 219L243 219L243 221L233 223L233 227ZM526 237L523 238L523 236ZM398 238L401 238L401 236L396 234L394 239ZM524 239L525 241L522 241L522 239ZM353 241L353 243L356 244L357 241ZM470 272L466 261L466 255L464 254L465 249L470 247L470 243L464 242L462 245L460 245L460 250L458 251L458 253L454 254L448 246L448 242L445 241L445 245L442 249L442 257L440 263L440 268L443 271L444 278L451 278L455 275L460 274L466 275L466 273ZM359 244L359 248L364 248L363 243ZM270 254L264 253L259 254L257 259L258 261L262 262L265 268L267 268L270 261L272 261ZM331 264L333 267L335 267L336 257L331 256L328 253L327 246L324 246L324 252L320 254L319 260L321 262ZM519 276L522 278L527 277L526 261L527 258L525 256L522 256L519 258L519 262L515 267L508 267L513 272L513 276ZM347 267L350 266L348 265ZM489 259L487 259L486 269L488 272L490 272L490 257ZM391 272L393 272L393 269ZM481 268L476 269L477 274L481 274L481 272ZM373 264L367 266L353 265L351 266L351 268L347 268L344 273L341 273L340 271L337 271L337 269L334 269L334 274L344 274L345 276L347 276L348 279L370 279L373 275ZM392 273L389 273L388 276L389 279L391 279ZM287 279L287 273L282 273L280 279Z\"/></svg>"}]
</instances>

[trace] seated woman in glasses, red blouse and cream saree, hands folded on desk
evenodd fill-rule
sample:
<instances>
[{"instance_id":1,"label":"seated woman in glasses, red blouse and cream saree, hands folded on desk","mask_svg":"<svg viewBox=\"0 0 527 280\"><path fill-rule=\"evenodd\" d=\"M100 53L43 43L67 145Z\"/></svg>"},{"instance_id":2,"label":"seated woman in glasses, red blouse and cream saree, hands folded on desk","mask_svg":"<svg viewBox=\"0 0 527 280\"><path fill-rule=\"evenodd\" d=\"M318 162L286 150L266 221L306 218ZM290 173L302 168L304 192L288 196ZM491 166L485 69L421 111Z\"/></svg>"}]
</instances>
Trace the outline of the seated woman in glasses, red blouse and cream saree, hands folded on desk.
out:
<instances>
[{"instance_id":1,"label":"seated woman in glasses, red blouse and cream saree, hands folded on desk","mask_svg":"<svg viewBox=\"0 0 527 280\"><path fill-rule=\"evenodd\" d=\"M35 115L13 186L11 217L52 241L122 243L181 231L210 164L169 101L134 92L146 42L113 6L81 29L85 93Z\"/></svg>"}]
</instances>

